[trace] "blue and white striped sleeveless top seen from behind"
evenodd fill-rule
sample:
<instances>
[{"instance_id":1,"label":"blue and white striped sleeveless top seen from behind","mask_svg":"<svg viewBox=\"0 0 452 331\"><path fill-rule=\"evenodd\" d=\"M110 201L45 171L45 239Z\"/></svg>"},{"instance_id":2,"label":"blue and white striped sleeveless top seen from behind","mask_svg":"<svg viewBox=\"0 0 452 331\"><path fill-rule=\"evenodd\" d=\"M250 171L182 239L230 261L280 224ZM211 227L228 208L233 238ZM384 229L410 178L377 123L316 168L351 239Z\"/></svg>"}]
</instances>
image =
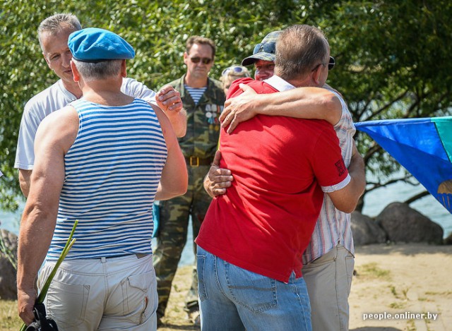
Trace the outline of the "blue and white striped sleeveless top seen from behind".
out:
<instances>
[{"instance_id":1,"label":"blue and white striped sleeveless top seen from behind","mask_svg":"<svg viewBox=\"0 0 452 331\"><path fill-rule=\"evenodd\" d=\"M140 99L118 107L83 99L71 105L78 134L64 157L47 259L59 257L76 219L76 243L66 259L152 253L153 202L167 158L155 112Z\"/></svg>"}]
</instances>

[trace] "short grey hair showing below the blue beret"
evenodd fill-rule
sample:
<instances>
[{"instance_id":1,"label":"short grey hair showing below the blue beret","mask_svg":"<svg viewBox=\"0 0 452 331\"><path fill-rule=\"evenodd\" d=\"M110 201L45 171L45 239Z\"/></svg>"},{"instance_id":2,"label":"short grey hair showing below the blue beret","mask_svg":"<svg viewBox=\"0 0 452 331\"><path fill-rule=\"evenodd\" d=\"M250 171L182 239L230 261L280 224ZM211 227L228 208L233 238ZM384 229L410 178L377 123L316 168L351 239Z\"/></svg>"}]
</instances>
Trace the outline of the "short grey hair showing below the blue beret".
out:
<instances>
[{"instance_id":1,"label":"short grey hair showing below the blue beret","mask_svg":"<svg viewBox=\"0 0 452 331\"><path fill-rule=\"evenodd\" d=\"M124 60L105 60L100 62L83 62L72 58L73 64L85 82L118 76Z\"/></svg>"}]
</instances>

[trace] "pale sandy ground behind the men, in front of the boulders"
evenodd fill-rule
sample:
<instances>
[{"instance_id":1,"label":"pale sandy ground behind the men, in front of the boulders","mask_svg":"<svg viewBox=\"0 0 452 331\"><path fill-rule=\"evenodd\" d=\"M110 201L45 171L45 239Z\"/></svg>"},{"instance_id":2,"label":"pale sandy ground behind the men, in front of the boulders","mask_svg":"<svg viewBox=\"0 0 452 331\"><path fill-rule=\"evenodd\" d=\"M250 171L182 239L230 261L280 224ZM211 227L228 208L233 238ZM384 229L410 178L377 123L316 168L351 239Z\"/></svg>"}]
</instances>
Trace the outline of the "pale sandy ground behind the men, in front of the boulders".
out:
<instances>
[{"instance_id":1,"label":"pale sandy ground behind the men, in front of the boulders","mask_svg":"<svg viewBox=\"0 0 452 331\"><path fill-rule=\"evenodd\" d=\"M452 246L357 247L355 272L350 330L452 331ZM183 309L190 275L179 268L159 330L197 330Z\"/></svg>"}]
</instances>

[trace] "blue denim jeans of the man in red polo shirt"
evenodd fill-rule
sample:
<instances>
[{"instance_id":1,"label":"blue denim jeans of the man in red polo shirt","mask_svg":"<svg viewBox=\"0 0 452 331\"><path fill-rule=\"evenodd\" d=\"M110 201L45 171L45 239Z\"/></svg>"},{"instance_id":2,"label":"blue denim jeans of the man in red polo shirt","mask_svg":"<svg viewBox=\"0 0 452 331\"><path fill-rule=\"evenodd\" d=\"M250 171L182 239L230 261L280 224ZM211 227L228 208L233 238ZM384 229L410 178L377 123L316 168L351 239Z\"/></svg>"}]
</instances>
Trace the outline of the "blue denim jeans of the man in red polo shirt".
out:
<instances>
[{"instance_id":1,"label":"blue denim jeans of the man in red polo shirt","mask_svg":"<svg viewBox=\"0 0 452 331\"><path fill-rule=\"evenodd\" d=\"M311 331L306 283L289 283L244 270L198 246L201 330Z\"/></svg>"}]
</instances>

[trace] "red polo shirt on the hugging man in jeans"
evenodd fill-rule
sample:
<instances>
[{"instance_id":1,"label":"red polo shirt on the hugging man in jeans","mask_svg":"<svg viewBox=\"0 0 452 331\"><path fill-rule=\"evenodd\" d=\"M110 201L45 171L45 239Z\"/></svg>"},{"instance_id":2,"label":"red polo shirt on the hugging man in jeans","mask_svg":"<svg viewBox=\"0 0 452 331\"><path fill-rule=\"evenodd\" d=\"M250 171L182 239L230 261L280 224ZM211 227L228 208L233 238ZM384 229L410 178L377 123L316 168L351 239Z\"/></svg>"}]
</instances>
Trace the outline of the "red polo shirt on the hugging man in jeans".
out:
<instances>
[{"instance_id":1,"label":"red polo shirt on the hugging man in jeans","mask_svg":"<svg viewBox=\"0 0 452 331\"><path fill-rule=\"evenodd\" d=\"M277 92L267 83L236 80L258 93ZM321 186L347 178L333 126L326 121L258 115L220 133L221 168L234 181L213 199L196 243L251 272L288 282L302 276L307 248L323 202Z\"/></svg>"}]
</instances>

